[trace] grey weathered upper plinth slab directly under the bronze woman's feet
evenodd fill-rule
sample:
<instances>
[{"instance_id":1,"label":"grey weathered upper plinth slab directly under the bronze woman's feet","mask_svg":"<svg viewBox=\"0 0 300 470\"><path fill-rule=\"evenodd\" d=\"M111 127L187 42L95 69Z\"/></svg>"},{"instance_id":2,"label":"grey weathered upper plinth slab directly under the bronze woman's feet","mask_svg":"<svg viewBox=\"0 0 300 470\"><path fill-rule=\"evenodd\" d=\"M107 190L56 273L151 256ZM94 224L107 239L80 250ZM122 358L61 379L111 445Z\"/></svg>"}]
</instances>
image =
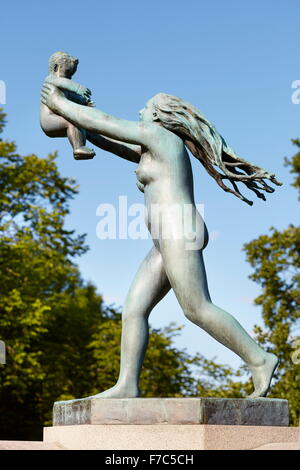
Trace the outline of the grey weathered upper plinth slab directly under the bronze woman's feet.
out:
<instances>
[{"instance_id":1,"label":"grey weathered upper plinth slab directly under the bronze woman's feet","mask_svg":"<svg viewBox=\"0 0 300 470\"><path fill-rule=\"evenodd\" d=\"M54 404L54 426L81 424L288 426L289 407L287 400L268 398L90 397Z\"/></svg>"}]
</instances>

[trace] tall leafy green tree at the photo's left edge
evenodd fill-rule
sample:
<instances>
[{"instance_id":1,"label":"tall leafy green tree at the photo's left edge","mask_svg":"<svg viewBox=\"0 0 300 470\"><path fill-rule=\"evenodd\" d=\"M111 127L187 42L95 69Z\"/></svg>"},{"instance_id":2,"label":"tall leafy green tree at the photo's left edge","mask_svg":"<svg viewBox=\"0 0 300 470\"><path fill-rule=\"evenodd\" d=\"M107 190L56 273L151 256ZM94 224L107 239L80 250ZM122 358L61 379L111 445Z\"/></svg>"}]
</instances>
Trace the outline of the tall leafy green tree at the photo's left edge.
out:
<instances>
[{"instance_id":1,"label":"tall leafy green tree at the photo's left edge","mask_svg":"<svg viewBox=\"0 0 300 470\"><path fill-rule=\"evenodd\" d=\"M7 438L29 435L42 421L43 341L58 305L81 285L72 258L87 247L64 228L77 188L59 175L55 158L22 157L13 142L0 142L0 337L7 352L0 419Z\"/></svg>"}]
</instances>

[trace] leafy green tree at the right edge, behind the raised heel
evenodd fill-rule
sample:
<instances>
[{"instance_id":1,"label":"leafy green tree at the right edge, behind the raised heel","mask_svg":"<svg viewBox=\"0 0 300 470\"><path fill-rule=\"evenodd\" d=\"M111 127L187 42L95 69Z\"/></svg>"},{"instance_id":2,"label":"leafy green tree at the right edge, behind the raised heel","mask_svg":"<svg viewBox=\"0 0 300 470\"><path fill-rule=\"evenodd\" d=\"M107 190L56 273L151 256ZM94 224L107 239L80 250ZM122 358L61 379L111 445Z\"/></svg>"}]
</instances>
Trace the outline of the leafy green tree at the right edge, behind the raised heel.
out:
<instances>
[{"instance_id":1,"label":"leafy green tree at the right edge, behind the raised heel","mask_svg":"<svg viewBox=\"0 0 300 470\"><path fill-rule=\"evenodd\" d=\"M293 140L300 148L300 141ZM295 175L292 186L300 194L300 152L286 159ZM247 260L254 268L250 276L262 287L255 299L262 308L264 327L256 326L257 340L277 354L280 366L270 396L289 400L291 421L300 418L300 226L279 231L271 228L245 245Z\"/></svg>"}]
</instances>

